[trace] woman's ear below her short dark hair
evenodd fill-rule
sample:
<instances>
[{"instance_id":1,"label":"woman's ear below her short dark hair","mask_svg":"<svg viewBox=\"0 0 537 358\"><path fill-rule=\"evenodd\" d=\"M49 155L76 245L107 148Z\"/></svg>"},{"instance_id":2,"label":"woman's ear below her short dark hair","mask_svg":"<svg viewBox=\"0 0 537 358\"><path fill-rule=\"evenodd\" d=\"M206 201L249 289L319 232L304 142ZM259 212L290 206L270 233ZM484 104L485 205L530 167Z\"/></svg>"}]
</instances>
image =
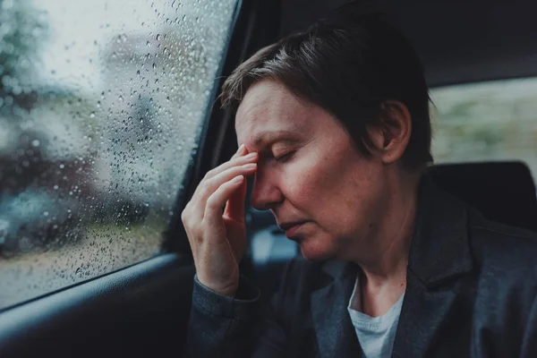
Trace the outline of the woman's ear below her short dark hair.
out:
<instances>
[{"instance_id":1,"label":"woman's ear below her short dark hair","mask_svg":"<svg viewBox=\"0 0 537 358\"><path fill-rule=\"evenodd\" d=\"M368 132L379 158L385 164L395 163L405 153L412 133L412 117L408 108L395 100L380 105L379 124Z\"/></svg>"}]
</instances>

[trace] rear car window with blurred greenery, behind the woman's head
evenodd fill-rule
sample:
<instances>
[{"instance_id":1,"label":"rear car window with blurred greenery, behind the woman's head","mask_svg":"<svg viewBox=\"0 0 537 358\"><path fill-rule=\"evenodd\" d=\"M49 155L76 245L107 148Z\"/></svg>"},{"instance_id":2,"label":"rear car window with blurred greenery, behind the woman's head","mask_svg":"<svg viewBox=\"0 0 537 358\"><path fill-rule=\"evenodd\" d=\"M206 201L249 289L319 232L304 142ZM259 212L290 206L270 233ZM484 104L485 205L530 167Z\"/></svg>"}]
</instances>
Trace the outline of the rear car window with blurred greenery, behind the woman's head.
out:
<instances>
[{"instance_id":1,"label":"rear car window with blurred greenery, behind the woman's head","mask_svg":"<svg viewBox=\"0 0 537 358\"><path fill-rule=\"evenodd\" d=\"M430 90L437 163L522 160L537 178L537 78Z\"/></svg>"}]
</instances>

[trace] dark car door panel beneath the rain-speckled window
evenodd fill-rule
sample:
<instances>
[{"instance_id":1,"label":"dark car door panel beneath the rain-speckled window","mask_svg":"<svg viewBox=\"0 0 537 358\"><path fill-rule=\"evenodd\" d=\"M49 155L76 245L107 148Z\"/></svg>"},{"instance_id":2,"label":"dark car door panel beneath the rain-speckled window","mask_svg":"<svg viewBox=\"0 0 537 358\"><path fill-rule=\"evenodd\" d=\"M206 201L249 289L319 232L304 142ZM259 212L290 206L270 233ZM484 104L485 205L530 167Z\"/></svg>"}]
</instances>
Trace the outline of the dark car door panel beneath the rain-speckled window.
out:
<instances>
[{"instance_id":1,"label":"dark car door panel beneath the rain-speckled window","mask_svg":"<svg viewBox=\"0 0 537 358\"><path fill-rule=\"evenodd\" d=\"M0 356L179 353L193 275L170 253L4 311Z\"/></svg>"}]
</instances>

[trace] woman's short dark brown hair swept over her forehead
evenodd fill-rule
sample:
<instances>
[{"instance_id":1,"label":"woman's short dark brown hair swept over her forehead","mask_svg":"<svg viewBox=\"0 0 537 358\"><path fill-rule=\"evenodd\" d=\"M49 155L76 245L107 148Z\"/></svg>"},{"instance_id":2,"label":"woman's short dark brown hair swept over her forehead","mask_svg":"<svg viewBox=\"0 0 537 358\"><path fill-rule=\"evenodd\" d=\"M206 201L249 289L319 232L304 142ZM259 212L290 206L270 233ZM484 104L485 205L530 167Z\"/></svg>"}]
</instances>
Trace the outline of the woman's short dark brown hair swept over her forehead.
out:
<instances>
[{"instance_id":1,"label":"woman's short dark brown hair swept over her forehead","mask_svg":"<svg viewBox=\"0 0 537 358\"><path fill-rule=\"evenodd\" d=\"M380 124L385 101L399 101L408 108L413 126L403 164L422 168L432 161L430 98L422 63L384 14L339 13L261 48L227 78L222 105L236 109L250 86L266 78L334 115L366 156L371 155L368 126Z\"/></svg>"}]
</instances>

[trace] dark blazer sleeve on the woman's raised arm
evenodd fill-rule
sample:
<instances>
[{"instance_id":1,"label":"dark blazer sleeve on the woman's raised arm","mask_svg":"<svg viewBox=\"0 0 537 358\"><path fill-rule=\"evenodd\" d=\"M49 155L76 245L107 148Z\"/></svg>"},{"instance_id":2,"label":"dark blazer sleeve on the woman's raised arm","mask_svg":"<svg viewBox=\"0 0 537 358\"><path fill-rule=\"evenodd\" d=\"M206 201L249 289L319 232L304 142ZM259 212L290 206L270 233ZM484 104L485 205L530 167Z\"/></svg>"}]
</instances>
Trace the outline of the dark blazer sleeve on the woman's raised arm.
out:
<instances>
[{"instance_id":1,"label":"dark blazer sleeve on the woman's raised arm","mask_svg":"<svg viewBox=\"0 0 537 358\"><path fill-rule=\"evenodd\" d=\"M286 333L277 319L284 299L282 288L272 298L268 315L262 315L260 291L245 277L241 277L237 298L217 294L194 277L185 357L285 356Z\"/></svg>"}]
</instances>

